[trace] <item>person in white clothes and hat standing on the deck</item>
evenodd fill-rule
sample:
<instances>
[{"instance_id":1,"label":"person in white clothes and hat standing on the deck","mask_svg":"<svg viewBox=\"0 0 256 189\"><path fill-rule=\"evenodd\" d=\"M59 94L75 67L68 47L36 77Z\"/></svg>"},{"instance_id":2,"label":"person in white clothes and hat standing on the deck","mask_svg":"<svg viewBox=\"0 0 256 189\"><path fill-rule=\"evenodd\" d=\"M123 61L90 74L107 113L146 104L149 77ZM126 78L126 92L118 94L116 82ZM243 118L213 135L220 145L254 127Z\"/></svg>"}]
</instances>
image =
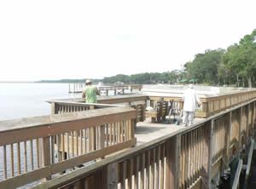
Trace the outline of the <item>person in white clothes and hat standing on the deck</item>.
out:
<instances>
[{"instance_id":1,"label":"person in white clothes and hat standing on the deck","mask_svg":"<svg viewBox=\"0 0 256 189\"><path fill-rule=\"evenodd\" d=\"M193 84L189 84L189 89L185 90L183 101L183 126L190 126L195 118L195 110L201 106Z\"/></svg>"}]
</instances>

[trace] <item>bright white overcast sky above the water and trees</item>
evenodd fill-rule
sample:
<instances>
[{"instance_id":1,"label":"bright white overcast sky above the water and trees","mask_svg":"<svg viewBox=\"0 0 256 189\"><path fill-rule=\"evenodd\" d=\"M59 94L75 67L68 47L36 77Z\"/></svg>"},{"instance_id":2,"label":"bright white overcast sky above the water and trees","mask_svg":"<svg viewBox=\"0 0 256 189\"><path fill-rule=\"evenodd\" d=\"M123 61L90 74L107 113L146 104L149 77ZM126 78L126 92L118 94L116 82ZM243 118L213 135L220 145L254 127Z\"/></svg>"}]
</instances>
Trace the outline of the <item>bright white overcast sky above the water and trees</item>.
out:
<instances>
[{"instance_id":1,"label":"bright white overcast sky above the water and trees","mask_svg":"<svg viewBox=\"0 0 256 189\"><path fill-rule=\"evenodd\" d=\"M255 0L1 0L0 81L171 72L253 29Z\"/></svg>"}]
</instances>

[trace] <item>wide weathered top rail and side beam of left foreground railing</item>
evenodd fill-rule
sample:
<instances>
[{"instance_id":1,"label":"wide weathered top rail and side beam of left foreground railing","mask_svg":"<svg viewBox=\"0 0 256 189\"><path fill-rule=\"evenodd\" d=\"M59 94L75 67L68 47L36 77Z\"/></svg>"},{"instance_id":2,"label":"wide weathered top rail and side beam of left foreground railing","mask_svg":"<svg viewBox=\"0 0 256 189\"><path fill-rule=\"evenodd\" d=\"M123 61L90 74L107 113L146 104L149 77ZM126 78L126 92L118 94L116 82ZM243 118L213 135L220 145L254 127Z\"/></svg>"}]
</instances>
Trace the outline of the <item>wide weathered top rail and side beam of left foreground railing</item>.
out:
<instances>
[{"instance_id":1,"label":"wide weathered top rail and side beam of left foreground railing","mask_svg":"<svg viewBox=\"0 0 256 189\"><path fill-rule=\"evenodd\" d=\"M102 117L102 118L99 118ZM87 129L105 123L135 118L136 111L130 107L104 108L90 113L76 112L68 115L30 117L0 122L0 146L24 140L57 135L73 129ZM54 122L54 123L53 123ZM29 133L30 135L27 135ZM16 137L12 137L12 136Z\"/></svg>"}]
</instances>

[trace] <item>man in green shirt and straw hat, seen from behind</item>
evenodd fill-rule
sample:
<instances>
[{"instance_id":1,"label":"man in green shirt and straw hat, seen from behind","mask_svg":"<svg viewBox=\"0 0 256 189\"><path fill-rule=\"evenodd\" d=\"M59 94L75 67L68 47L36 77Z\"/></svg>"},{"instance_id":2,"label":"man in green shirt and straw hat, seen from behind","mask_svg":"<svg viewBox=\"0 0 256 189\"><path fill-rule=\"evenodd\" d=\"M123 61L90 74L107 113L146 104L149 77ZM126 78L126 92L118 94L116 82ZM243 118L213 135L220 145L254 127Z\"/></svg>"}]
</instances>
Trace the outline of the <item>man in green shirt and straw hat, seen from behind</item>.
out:
<instances>
[{"instance_id":1,"label":"man in green shirt and straw hat, seen from behind","mask_svg":"<svg viewBox=\"0 0 256 189\"><path fill-rule=\"evenodd\" d=\"M86 103L97 103L97 95L100 95L100 91L96 88L96 86L92 85L90 80L86 80L85 89L82 93L82 98L85 99Z\"/></svg>"}]
</instances>

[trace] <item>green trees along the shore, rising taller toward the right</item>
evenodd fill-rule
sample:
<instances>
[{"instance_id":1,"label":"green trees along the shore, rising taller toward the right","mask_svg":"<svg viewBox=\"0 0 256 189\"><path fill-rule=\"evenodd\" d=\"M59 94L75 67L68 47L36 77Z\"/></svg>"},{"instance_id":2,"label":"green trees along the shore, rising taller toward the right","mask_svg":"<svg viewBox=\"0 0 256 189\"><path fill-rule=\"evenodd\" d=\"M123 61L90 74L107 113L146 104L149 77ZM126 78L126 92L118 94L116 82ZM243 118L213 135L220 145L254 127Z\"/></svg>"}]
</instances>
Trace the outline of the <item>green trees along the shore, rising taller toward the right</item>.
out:
<instances>
[{"instance_id":1,"label":"green trees along the shore, rising taller toward the right","mask_svg":"<svg viewBox=\"0 0 256 189\"><path fill-rule=\"evenodd\" d=\"M181 70L172 72L144 72L104 77L103 83L179 83L196 81L207 85L256 86L256 29L227 49L207 49L195 54Z\"/></svg>"}]
</instances>

